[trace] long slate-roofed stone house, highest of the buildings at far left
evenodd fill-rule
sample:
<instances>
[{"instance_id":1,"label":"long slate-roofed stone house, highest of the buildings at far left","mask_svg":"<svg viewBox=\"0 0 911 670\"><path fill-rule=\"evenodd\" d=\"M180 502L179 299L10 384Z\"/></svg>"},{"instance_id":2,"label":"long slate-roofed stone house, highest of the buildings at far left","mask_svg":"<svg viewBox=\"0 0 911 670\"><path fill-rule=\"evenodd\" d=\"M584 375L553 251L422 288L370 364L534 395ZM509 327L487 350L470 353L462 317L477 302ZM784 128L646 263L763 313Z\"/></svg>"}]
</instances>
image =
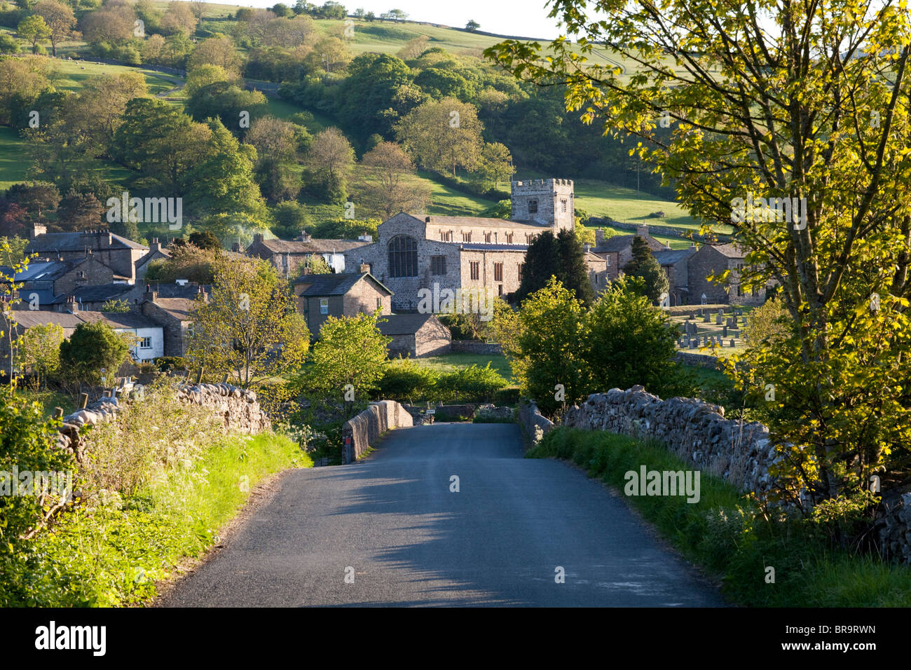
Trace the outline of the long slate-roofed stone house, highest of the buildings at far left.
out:
<instances>
[{"instance_id":1,"label":"long slate-roofed stone house, highest of the buildings at far left","mask_svg":"<svg viewBox=\"0 0 911 670\"><path fill-rule=\"evenodd\" d=\"M148 253L148 247L107 230L47 232L46 226L35 225L26 253L37 253L39 258L64 260L85 258L90 253L97 261L107 265L118 281L134 283L136 263Z\"/></svg>"}]
</instances>

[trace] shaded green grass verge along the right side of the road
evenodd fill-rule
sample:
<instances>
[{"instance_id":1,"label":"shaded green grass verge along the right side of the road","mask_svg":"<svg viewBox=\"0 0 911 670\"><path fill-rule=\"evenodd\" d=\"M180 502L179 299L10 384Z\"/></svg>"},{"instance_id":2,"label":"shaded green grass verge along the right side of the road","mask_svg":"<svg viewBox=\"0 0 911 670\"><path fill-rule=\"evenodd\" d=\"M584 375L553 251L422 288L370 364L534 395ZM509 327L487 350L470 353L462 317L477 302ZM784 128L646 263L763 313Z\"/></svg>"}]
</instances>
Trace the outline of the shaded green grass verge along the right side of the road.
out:
<instances>
[{"instance_id":1,"label":"shaded green grass verge along the right side of the road","mask_svg":"<svg viewBox=\"0 0 911 670\"><path fill-rule=\"evenodd\" d=\"M529 458L572 459L623 490L624 474L690 469L654 443L612 433L558 428ZM765 607L906 607L911 569L855 555L810 521L767 521L742 494L701 473L701 496L630 496L631 504L691 562L722 581L734 603ZM774 569L774 582L768 568Z\"/></svg>"}]
</instances>

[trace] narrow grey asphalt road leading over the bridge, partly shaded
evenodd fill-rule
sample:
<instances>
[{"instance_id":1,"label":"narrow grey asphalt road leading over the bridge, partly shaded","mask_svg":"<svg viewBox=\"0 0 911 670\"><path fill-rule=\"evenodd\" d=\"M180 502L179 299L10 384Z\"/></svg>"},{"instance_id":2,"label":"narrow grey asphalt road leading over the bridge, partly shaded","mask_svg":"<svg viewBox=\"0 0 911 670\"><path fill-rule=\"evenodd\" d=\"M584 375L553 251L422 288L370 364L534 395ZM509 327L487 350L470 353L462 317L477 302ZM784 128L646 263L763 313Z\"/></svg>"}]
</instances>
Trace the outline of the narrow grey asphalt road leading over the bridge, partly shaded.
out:
<instances>
[{"instance_id":1,"label":"narrow grey asphalt road leading over the bridge, partly shaded","mask_svg":"<svg viewBox=\"0 0 911 670\"><path fill-rule=\"evenodd\" d=\"M522 456L515 424L435 424L292 470L159 604L724 604L598 481Z\"/></svg>"}]
</instances>

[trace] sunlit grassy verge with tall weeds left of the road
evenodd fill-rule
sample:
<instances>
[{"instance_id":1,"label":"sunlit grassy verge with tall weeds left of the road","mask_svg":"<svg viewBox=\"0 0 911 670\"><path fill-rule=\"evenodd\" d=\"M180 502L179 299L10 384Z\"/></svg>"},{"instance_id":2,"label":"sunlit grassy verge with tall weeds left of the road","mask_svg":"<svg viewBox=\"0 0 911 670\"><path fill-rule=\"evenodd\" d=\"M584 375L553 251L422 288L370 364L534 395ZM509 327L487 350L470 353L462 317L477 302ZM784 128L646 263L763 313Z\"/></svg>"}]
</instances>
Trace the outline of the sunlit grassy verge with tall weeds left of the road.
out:
<instances>
[{"instance_id":1,"label":"sunlit grassy verge with tall weeds left of the road","mask_svg":"<svg viewBox=\"0 0 911 670\"><path fill-rule=\"evenodd\" d=\"M261 479L312 460L274 433L231 435L188 469L169 469L131 496L118 494L77 508L19 553L7 596L27 606L144 604L186 557L219 539Z\"/></svg>"}]
</instances>

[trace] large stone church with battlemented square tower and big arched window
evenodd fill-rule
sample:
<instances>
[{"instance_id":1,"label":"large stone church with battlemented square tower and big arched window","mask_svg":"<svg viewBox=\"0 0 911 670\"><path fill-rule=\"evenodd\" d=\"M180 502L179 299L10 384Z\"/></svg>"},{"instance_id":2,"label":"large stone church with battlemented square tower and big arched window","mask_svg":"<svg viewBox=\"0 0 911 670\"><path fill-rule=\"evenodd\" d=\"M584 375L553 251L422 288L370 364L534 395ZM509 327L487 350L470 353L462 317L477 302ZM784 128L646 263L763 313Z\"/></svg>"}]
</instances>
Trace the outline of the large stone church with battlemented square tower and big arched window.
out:
<instances>
[{"instance_id":1,"label":"large stone church with battlemented square tower and big arched window","mask_svg":"<svg viewBox=\"0 0 911 670\"><path fill-rule=\"evenodd\" d=\"M345 265L369 272L394 293L397 312L417 310L422 289L476 290L508 299L522 281L528 245L537 235L575 228L572 180L512 182L510 219L415 217L400 212L377 227L372 244L345 252ZM604 261L587 253L589 273ZM436 284L436 286L435 286Z\"/></svg>"}]
</instances>

